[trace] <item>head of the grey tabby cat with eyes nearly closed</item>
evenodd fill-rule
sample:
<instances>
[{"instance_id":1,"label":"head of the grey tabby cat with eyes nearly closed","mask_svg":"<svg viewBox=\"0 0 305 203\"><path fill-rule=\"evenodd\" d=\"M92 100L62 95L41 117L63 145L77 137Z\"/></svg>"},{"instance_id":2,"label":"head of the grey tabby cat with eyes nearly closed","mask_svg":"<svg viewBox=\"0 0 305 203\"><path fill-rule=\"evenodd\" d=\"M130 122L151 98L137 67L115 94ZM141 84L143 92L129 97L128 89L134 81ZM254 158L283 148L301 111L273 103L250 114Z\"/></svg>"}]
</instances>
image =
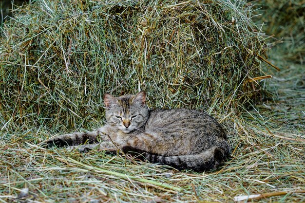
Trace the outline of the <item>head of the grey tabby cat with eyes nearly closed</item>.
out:
<instances>
[{"instance_id":1,"label":"head of the grey tabby cat with eyes nearly closed","mask_svg":"<svg viewBox=\"0 0 305 203\"><path fill-rule=\"evenodd\" d=\"M149 116L149 109L145 101L146 93L144 91L136 95L128 94L120 97L105 93L104 103L107 123L125 133L141 128Z\"/></svg>"}]
</instances>

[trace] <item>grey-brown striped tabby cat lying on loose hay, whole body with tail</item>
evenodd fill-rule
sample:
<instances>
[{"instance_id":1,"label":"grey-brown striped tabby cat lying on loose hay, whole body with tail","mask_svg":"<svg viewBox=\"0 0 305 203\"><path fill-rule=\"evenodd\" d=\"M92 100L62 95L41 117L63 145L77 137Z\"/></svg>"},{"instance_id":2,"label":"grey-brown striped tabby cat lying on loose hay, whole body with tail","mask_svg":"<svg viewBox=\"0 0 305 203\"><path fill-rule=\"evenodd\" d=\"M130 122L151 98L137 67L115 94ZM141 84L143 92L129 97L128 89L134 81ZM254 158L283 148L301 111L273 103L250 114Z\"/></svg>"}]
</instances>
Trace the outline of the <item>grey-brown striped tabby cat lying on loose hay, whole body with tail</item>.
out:
<instances>
[{"instance_id":1,"label":"grey-brown striped tabby cat lying on loose hay, whole body with tail","mask_svg":"<svg viewBox=\"0 0 305 203\"><path fill-rule=\"evenodd\" d=\"M103 99L105 126L96 132L54 137L47 140L48 147L85 144L78 149L119 149L151 163L198 172L216 169L229 157L225 131L206 113L188 109L150 111L144 91L119 97L105 93Z\"/></svg>"}]
</instances>

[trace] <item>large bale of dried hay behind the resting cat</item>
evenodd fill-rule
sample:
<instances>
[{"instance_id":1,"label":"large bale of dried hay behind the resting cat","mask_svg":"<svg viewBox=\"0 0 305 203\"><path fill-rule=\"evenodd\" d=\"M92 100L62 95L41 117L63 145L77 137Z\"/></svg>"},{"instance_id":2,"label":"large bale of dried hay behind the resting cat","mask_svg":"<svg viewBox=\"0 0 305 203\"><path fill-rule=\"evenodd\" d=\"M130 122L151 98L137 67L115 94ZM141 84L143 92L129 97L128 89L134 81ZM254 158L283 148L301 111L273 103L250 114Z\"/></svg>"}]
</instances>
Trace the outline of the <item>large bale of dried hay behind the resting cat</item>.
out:
<instances>
[{"instance_id":1,"label":"large bale of dried hay behind the resting cat","mask_svg":"<svg viewBox=\"0 0 305 203\"><path fill-rule=\"evenodd\" d=\"M88 127L105 92L220 115L260 93L247 80L261 76L264 40L242 1L44 0L18 13L0 39L7 126Z\"/></svg>"}]
</instances>

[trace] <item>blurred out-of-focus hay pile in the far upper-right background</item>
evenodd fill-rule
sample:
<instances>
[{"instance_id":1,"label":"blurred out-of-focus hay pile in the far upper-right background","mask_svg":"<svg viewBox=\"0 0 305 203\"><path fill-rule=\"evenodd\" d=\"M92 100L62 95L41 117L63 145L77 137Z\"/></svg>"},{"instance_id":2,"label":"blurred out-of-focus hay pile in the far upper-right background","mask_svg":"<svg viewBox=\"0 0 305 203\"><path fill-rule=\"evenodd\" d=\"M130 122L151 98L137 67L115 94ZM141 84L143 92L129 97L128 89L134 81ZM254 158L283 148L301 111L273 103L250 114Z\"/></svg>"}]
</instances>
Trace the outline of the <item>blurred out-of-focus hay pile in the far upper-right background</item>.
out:
<instances>
[{"instance_id":1,"label":"blurred out-of-focus hay pile in the far upper-right background","mask_svg":"<svg viewBox=\"0 0 305 203\"><path fill-rule=\"evenodd\" d=\"M305 0L258 0L259 17L267 35L283 43L275 52L286 60L305 61Z\"/></svg>"}]
</instances>

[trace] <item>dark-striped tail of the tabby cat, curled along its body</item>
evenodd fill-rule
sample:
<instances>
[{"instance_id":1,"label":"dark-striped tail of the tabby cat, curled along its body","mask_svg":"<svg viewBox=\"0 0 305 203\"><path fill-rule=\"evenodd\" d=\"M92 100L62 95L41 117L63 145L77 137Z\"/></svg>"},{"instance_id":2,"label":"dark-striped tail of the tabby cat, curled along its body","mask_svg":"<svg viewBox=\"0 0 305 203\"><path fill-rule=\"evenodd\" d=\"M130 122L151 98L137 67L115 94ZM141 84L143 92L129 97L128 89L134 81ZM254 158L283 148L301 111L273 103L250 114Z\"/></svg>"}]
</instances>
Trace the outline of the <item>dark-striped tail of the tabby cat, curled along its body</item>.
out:
<instances>
[{"instance_id":1,"label":"dark-striped tail of the tabby cat, curled along its body","mask_svg":"<svg viewBox=\"0 0 305 203\"><path fill-rule=\"evenodd\" d=\"M229 149L221 147L212 147L200 154L183 156L161 156L133 150L132 148L123 148L123 151L130 154L134 151L141 153L141 155L151 163L172 166L178 170L192 169L197 172L216 169L218 166L224 164L226 159L229 158ZM135 154L133 153L132 155L134 156Z\"/></svg>"}]
</instances>

